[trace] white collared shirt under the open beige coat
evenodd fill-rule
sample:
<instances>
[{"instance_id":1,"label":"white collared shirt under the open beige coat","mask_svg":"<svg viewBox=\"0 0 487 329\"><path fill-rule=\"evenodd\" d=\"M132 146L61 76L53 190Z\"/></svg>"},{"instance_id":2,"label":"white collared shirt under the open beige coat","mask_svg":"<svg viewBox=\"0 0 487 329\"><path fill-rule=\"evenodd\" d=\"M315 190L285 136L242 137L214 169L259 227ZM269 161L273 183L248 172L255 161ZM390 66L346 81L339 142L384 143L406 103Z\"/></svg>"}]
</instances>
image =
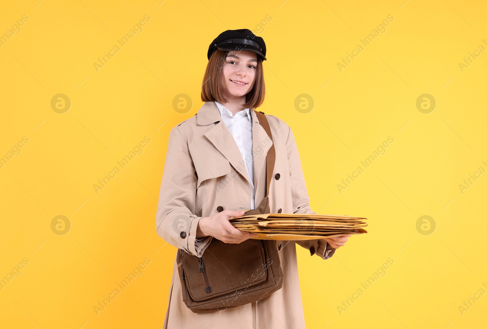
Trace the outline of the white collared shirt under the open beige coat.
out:
<instances>
[{"instance_id":1,"label":"white collared shirt under the open beige coat","mask_svg":"<svg viewBox=\"0 0 487 329\"><path fill-rule=\"evenodd\" d=\"M254 158L252 157L252 115L250 109L241 110L233 116L225 106L215 101L226 128L239 146L250 179L250 209L254 209Z\"/></svg>"}]
</instances>

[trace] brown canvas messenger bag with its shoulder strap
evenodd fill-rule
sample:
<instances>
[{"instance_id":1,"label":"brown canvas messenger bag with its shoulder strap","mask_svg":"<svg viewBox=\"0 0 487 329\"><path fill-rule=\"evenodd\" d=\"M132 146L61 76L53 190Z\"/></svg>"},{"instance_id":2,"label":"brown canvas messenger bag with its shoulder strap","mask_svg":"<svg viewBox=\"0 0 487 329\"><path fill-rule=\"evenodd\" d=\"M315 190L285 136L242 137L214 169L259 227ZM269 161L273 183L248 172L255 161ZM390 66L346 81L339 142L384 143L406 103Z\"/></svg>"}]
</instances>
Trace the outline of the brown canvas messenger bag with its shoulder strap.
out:
<instances>
[{"instance_id":1,"label":"brown canvas messenger bag with its shoulder strap","mask_svg":"<svg viewBox=\"0 0 487 329\"><path fill-rule=\"evenodd\" d=\"M255 111L272 141L269 122ZM276 162L274 144L266 156L266 194L257 209L245 215L269 214L269 187ZM261 300L282 287L282 270L273 240L247 239L224 243L212 238L202 257L178 249L183 301L193 312L222 311Z\"/></svg>"}]
</instances>

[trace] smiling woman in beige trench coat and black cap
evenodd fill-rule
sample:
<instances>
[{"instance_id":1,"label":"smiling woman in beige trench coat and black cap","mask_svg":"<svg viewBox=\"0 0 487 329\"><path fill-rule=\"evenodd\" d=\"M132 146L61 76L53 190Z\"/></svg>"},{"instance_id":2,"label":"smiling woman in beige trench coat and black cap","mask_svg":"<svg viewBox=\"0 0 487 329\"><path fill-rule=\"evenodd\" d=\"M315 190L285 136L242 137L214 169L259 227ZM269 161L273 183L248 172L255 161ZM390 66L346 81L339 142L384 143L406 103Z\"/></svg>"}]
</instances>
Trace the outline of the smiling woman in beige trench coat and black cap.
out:
<instances>
[{"instance_id":1,"label":"smiling woman in beige trench coat and black cap","mask_svg":"<svg viewBox=\"0 0 487 329\"><path fill-rule=\"evenodd\" d=\"M266 114L271 141L254 112L264 100L265 52L263 39L250 30L227 30L215 38L201 92L205 104L170 131L157 234L191 255L201 257L212 238L241 243L256 236L235 229L228 219L242 216L264 198L265 157L272 145L276 161L271 213L315 214L291 129ZM217 312L193 313L187 308L175 260L164 328L305 328L295 245L328 259L348 237L275 241L282 288L260 301Z\"/></svg>"}]
</instances>

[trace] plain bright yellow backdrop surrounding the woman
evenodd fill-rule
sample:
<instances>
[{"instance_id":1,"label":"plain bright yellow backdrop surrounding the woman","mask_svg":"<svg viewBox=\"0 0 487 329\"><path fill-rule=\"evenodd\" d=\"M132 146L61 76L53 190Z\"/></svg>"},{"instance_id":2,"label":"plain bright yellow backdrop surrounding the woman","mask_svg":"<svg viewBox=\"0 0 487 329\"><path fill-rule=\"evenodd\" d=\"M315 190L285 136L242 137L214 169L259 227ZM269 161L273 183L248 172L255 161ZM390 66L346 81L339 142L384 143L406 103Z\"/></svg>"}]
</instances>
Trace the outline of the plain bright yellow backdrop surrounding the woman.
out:
<instances>
[{"instance_id":1,"label":"plain bright yellow backdrop surrounding the woman","mask_svg":"<svg viewBox=\"0 0 487 329\"><path fill-rule=\"evenodd\" d=\"M487 169L487 53L463 72L458 63L487 47L486 3L282 2L3 1L1 35L29 19L0 47L0 156L29 142L0 168L0 279L28 264L0 291L0 328L161 327L176 253L155 230L169 130L202 105L209 43L241 28L266 42L259 110L293 129L311 207L369 222L329 260L297 247L307 328L485 325L487 295L463 315L459 306L487 292L487 174L463 193L459 184ZM143 31L96 72L98 57L145 15ZM340 72L341 57L388 15L386 32ZM51 108L59 93L71 100L64 114ZM193 102L185 114L172 106L181 93ZM315 103L307 114L294 106L302 93ZM428 114L415 105L424 93L436 100ZM96 193L145 136L143 153ZM387 152L340 193L389 136ZM58 215L71 223L65 235L51 229ZM436 223L430 235L416 229L423 215ZM96 315L145 258L143 275ZM388 258L386 275L363 289Z\"/></svg>"}]
</instances>

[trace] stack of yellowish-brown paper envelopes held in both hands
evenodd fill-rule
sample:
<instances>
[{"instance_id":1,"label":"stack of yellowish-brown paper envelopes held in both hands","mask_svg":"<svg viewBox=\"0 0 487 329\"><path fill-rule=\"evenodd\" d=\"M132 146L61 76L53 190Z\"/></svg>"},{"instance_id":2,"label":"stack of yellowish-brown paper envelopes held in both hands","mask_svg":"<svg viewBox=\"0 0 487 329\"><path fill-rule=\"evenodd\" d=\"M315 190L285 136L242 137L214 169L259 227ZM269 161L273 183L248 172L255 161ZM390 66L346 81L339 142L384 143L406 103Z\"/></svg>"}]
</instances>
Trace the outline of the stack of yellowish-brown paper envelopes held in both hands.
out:
<instances>
[{"instance_id":1,"label":"stack of yellowish-brown paper envelopes held in both hands","mask_svg":"<svg viewBox=\"0 0 487 329\"><path fill-rule=\"evenodd\" d=\"M367 233L362 217L318 214L264 214L233 217L241 231L256 233L263 240L312 240Z\"/></svg>"}]
</instances>

